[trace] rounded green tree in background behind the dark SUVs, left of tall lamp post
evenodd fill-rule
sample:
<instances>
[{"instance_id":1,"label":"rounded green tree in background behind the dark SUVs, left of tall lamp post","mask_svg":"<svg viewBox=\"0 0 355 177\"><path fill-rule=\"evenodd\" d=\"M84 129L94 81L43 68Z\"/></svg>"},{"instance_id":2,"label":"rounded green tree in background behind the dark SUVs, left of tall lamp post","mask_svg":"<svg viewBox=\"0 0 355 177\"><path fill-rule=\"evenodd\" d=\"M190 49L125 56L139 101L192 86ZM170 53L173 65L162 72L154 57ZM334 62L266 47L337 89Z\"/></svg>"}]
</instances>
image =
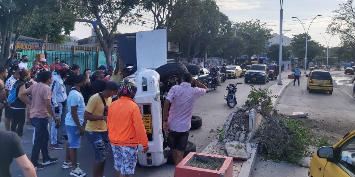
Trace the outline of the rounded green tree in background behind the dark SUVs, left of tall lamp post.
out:
<instances>
[{"instance_id":1,"label":"rounded green tree in background behind the dark SUVs, left of tall lamp post","mask_svg":"<svg viewBox=\"0 0 355 177\"><path fill-rule=\"evenodd\" d=\"M265 51L269 39L272 38L271 29L264 27L258 19L235 23L235 25L236 35L244 39L245 54L248 56L249 64L251 64L253 55L259 55Z\"/></svg>"}]
</instances>

